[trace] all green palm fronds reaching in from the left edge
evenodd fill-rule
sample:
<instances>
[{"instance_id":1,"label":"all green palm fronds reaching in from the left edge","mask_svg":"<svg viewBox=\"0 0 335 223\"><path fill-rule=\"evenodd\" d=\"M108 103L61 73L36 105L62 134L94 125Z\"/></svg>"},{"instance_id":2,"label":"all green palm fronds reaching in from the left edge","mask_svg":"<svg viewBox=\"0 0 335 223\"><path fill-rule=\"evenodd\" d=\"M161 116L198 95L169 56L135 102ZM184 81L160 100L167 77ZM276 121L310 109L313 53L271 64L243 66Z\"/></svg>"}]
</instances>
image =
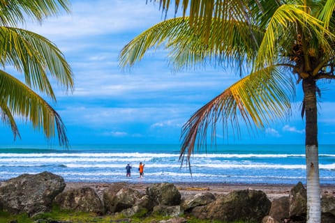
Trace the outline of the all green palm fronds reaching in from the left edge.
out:
<instances>
[{"instance_id":1,"label":"all green palm fronds reaching in from the left edge","mask_svg":"<svg viewBox=\"0 0 335 223\"><path fill-rule=\"evenodd\" d=\"M56 135L59 144L68 145L66 128L57 112L35 91L56 101L50 77L66 91L73 90L73 73L64 55L43 36L17 28L29 17L42 22L63 9L69 12L67 0L0 1L0 112L3 123L10 126L14 139L20 137L15 118L30 121L50 139ZM14 68L24 75L24 83L5 71ZM33 90L35 89L35 91Z\"/></svg>"}]
</instances>

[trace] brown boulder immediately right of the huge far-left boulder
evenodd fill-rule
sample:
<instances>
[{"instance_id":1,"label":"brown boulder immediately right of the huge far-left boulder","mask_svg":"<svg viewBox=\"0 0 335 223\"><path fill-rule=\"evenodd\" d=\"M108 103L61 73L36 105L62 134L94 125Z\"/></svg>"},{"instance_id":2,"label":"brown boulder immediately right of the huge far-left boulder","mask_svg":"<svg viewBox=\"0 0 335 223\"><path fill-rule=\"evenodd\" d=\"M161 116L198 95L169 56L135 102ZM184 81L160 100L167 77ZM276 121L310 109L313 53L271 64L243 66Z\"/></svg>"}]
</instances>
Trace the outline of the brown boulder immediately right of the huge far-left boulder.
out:
<instances>
[{"instance_id":1,"label":"brown boulder immediately right of the huge far-left boulder","mask_svg":"<svg viewBox=\"0 0 335 223\"><path fill-rule=\"evenodd\" d=\"M54 203L60 208L103 214L103 203L91 187L73 188L58 194Z\"/></svg>"}]
</instances>

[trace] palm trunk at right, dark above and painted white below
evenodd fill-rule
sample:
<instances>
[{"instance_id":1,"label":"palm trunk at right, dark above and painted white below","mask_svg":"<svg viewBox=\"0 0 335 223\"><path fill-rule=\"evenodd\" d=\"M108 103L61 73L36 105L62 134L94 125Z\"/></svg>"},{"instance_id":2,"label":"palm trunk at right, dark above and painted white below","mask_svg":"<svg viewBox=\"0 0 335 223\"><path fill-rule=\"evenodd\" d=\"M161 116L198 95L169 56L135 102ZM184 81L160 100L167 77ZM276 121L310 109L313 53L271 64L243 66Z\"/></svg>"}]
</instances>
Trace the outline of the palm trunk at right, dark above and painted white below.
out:
<instances>
[{"instance_id":1,"label":"palm trunk at right, dark above and painted white below","mask_svg":"<svg viewBox=\"0 0 335 223\"><path fill-rule=\"evenodd\" d=\"M318 155L318 109L316 83L313 79L303 81L304 109L306 115L306 187L307 223L321 222L321 199Z\"/></svg>"}]
</instances>

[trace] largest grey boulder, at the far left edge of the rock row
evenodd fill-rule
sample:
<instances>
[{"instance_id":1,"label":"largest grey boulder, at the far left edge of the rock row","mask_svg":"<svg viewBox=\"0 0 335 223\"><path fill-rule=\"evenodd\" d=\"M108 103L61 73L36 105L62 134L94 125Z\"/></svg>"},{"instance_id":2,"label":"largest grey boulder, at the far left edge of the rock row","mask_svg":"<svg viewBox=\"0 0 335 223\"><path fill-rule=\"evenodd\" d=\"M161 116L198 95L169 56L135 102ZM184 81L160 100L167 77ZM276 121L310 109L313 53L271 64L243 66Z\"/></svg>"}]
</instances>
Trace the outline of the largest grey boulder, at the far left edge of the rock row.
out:
<instances>
[{"instance_id":1,"label":"largest grey boulder, at the far left edge of the rock row","mask_svg":"<svg viewBox=\"0 0 335 223\"><path fill-rule=\"evenodd\" d=\"M34 216L50 211L52 201L66 186L64 178L50 172L22 174L0 185L0 206L13 214Z\"/></svg>"}]
</instances>

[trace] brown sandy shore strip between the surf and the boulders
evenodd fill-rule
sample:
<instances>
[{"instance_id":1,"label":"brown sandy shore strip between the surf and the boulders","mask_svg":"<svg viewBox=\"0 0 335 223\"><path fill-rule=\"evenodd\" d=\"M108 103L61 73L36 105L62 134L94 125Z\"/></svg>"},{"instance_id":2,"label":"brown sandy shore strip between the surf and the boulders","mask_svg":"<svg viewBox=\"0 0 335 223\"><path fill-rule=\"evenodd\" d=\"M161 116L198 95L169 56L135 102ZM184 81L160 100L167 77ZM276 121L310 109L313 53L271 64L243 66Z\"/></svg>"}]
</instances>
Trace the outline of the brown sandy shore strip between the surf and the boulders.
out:
<instances>
[{"instance_id":1,"label":"brown sandy shore strip between the surf and the boulders","mask_svg":"<svg viewBox=\"0 0 335 223\"><path fill-rule=\"evenodd\" d=\"M65 190L76 187L92 187L101 196L103 190L110 187L112 183L92 183L92 182L67 182ZM145 192L149 183L129 183L129 187ZM285 184L244 184L244 183L174 183L181 197L189 197L200 192L211 192L212 194L228 194L234 190L262 190L270 200L285 197L290 194L290 190L295 185ZM335 196L335 185L321 185L322 194L332 194Z\"/></svg>"}]
</instances>

